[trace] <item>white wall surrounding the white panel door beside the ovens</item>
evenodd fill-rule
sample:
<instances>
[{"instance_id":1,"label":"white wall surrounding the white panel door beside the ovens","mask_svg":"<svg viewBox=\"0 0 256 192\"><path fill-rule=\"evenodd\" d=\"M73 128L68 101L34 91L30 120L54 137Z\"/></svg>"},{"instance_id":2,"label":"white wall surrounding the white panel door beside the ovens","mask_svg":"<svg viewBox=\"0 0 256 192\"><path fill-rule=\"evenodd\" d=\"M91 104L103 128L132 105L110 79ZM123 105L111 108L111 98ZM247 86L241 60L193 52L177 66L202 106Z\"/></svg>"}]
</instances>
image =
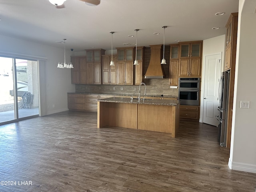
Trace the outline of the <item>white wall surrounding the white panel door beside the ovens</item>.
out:
<instances>
[{"instance_id":1,"label":"white wall surrounding the white panel door beside the ovens","mask_svg":"<svg viewBox=\"0 0 256 192\"><path fill-rule=\"evenodd\" d=\"M224 64L224 50L225 50L225 38L226 35L217 36L214 38L206 39L203 42L203 56L202 56L202 82L201 82L201 103L200 103L200 119L203 119L203 106L204 106L204 69L205 69L205 57L208 55L222 54L221 65L223 69Z\"/></svg>"}]
</instances>

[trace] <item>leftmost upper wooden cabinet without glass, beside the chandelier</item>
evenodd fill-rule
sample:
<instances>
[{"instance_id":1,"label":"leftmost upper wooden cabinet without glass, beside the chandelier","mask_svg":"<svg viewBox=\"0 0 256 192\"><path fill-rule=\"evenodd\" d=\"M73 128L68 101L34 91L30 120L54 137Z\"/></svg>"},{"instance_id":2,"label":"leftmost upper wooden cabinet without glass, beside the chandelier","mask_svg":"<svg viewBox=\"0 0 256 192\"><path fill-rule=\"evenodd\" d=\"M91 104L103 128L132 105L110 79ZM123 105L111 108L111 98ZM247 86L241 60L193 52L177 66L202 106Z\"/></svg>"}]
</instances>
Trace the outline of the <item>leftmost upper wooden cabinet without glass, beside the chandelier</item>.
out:
<instances>
[{"instance_id":1,"label":"leftmost upper wooden cabinet without glass, beside the chandelier","mask_svg":"<svg viewBox=\"0 0 256 192\"><path fill-rule=\"evenodd\" d=\"M71 69L72 84L86 84L86 57L71 57L74 68Z\"/></svg>"}]
</instances>

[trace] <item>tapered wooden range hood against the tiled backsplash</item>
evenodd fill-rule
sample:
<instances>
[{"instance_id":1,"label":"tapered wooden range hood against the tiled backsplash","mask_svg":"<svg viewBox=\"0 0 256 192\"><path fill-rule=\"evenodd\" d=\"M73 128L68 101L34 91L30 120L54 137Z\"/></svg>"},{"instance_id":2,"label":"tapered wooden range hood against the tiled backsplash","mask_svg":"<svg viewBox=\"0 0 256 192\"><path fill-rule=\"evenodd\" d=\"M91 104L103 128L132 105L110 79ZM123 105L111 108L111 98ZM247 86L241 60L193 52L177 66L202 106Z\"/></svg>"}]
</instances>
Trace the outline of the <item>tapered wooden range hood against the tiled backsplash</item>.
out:
<instances>
[{"instance_id":1,"label":"tapered wooden range hood against the tiled backsplash","mask_svg":"<svg viewBox=\"0 0 256 192\"><path fill-rule=\"evenodd\" d=\"M162 79L165 78L164 70L161 65L161 48L162 45L150 45L151 55L145 79Z\"/></svg>"}]
</instances>

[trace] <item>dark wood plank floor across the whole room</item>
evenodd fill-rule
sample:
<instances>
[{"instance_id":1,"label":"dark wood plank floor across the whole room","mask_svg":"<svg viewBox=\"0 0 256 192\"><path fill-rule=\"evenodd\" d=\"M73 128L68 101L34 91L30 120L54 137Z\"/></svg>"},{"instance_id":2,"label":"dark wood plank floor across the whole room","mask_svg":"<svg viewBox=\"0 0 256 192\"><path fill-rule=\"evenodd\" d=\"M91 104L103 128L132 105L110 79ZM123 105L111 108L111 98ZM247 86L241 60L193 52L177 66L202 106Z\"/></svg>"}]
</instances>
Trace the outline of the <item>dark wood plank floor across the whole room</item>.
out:
<instances>
[{"instance_id":1,"label":"dark wood plank floor across the whole room","mask_svg":"<svg viewBox=\"0 0 256 192\"><path fill-rule=\"evenodd\" d=\"M0 192L255 192L214 126L182 120L171 138L96 125L96 113L62 112L0 126Z\"/></svg>"}]
</instances>

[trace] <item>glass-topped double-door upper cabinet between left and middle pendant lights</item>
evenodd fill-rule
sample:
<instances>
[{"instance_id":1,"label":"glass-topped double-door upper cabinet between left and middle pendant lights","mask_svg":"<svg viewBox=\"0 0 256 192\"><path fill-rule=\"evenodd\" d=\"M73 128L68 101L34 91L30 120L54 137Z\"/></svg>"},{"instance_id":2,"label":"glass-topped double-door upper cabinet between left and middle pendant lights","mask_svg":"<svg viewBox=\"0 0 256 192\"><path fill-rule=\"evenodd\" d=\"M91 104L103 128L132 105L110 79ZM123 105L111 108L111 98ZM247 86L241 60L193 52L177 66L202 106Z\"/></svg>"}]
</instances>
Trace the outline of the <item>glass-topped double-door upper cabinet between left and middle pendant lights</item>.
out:
<instances>
[{"instance_id":1,"label":"glass-topped double-door upper cabinet between left and middle pendant lights","mask_svg":"<svg viewBox=\"0 0 256 192\"><path fill-rule=\"evenodd\" d=\"M134 47L117 49L117 84L134 84Z\"/></svg>"}]
</instances>

